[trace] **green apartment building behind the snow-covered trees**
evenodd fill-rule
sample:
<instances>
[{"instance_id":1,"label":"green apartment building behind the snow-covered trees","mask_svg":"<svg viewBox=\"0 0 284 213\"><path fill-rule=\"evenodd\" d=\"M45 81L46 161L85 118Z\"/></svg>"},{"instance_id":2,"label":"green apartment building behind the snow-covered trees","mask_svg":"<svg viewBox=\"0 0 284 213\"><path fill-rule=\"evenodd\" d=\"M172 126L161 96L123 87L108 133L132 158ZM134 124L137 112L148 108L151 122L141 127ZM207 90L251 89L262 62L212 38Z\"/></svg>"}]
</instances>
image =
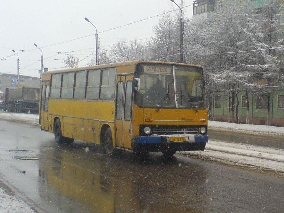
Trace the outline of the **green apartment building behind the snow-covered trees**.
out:
<instances>
[{"instance_id":1,"label":"green apartment building behind the snow-covered trees","mask_svg":"<svg viewBox=\"0 0 284 213\"><path fill-rule=\"evenodd\" d=\"M195 0L193 1L193 21L210 18L213 13L226 10L228 7L235 6L241 0ZM251 9L261 9L264 1L249 1ZM284 0L279 0L279 4L284 5ZM284 11L280 10L279 26L284 30ZM279 69L279 76L283 75L283 68ZM283 84L275 80L275 85ZM262 79L255 79L255 82L265 83ZM226 92L215 91L212 94L212 119L215 121L249 123L256 125L273 125L284 127L284 91L277 88L270 93L256 95L254 91L246 93L241 85L237 85L237 96L235 100L230 100L230 95ZM246 95L247 94L247 95ZM234 102L234 113L232 115L231 103ZM270 103L270 104L269 104Z\"/></svg>"}]
</instances>

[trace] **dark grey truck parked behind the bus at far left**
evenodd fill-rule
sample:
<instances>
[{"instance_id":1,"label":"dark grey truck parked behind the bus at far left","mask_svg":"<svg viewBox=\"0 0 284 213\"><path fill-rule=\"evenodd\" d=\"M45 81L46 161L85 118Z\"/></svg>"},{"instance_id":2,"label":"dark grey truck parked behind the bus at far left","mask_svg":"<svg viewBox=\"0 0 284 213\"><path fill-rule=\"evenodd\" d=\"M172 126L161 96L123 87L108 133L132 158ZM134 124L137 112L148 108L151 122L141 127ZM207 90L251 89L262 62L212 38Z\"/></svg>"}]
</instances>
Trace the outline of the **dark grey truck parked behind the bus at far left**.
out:
<instances>
[{"instance_id":1,"label":"dark grey truck parked behind the bus at far left","mask_svg":"<svg viewBox=\"0 0 284 213\"><path fill-rule=\"evenodd\" d=\"M9 112L38 114L39 95L39 88L6 88L0 109Z\"/></svg>"}]
</instances>

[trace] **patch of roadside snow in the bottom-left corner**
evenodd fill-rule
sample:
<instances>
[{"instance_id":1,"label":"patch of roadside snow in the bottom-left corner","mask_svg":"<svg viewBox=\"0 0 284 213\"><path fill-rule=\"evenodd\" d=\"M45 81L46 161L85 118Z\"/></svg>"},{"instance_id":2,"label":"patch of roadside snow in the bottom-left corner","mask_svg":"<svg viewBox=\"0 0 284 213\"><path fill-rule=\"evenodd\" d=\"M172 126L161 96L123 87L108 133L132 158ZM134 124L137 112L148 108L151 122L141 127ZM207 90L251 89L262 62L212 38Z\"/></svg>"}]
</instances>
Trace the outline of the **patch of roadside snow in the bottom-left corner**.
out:
<instances>
[{"instance_id":1,"label":"patch of roadside snow in the bottom-left corner","mask_svg":"<svg viewBox=\"0 0 284 213\"><path fill-rule=\"evenodd\" d=\"M0 188L0 213L35 213L24 201L4 193Z\"/></svg>"}]
</instances>

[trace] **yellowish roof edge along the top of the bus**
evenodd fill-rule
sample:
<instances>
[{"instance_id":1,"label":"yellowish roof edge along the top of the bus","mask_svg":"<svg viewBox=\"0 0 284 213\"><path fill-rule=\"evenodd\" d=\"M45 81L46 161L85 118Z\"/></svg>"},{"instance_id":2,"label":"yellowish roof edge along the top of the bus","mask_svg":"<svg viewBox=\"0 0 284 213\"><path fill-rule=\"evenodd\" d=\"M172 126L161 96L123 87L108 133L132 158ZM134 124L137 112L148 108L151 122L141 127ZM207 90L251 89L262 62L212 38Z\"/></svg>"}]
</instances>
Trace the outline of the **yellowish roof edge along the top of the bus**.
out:
<instances>
[{"instance_id":1,"label":"yellowish roof edge along the top of the bus","mask_svg":"<svg viewBox=\"0 0 284 213\"><path fill-rule=\"evenodd\" d=\"M99 64L94 66L87 66L87 67L78 67L78 68L69 68L69 69L62 69L62 70L52 70L43 72L43 75L45 74L51 74L51 73L58 73L58 72L76 72L79 70L91 70L91 69L101 69L101 68L111 68L111 67L118 67L118 66L129 66L129 65L136 65L139 63L157 63L157 64L176 64L176 65L188 65L188 66L194 66L194 67L201 67L197 64L185 64L185 63L177 63L177 62L156 62L156 61L128 61L128 62L117 62L117 63L110 63L110 64Z\"/></svg>"}]
</instances>

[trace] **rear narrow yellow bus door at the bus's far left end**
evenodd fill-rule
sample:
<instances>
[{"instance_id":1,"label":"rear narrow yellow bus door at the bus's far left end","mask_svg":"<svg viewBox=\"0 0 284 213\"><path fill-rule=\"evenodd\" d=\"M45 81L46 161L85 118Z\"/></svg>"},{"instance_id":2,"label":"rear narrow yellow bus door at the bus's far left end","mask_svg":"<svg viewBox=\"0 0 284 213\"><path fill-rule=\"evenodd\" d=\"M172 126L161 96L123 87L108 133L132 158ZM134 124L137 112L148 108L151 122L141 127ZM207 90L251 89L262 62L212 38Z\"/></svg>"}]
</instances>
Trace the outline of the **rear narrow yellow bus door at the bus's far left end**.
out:
<instances>
[{"instance_id":1,"label":"rear narrow yellow bus door at the bus's far left end","mask_svg":"<svg viewBox=\"0 0 284 213\"><path fill-rule=\"evenodd\" d=\"M49 130L48 126L48 95L49 95L49 81L42 83L41 89L41 105L40 105L40 117L41 117L41 129Z\"/></svg>"}]
</instances>

